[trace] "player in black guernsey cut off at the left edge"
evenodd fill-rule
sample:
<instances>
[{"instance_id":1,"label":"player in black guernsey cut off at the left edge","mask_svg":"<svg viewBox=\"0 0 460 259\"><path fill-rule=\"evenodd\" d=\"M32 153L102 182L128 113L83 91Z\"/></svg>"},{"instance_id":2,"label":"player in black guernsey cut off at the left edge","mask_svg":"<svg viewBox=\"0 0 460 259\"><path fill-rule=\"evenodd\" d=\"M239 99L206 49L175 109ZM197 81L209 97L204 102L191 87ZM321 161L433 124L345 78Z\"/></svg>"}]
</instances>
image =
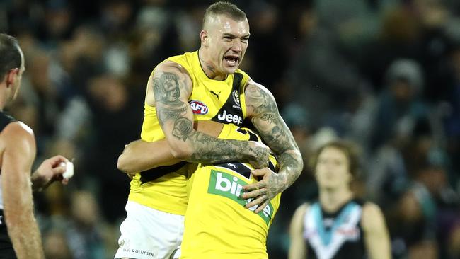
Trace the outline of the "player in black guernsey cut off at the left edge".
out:
<instances>
[{"instance_id":1,"label":"player in black guernsey cut off at the left edge","mask_svg":"<svg viewBox=\"0 0 460 259\"><path fill-rule=\"evenodd\" d=\"M24 70L18 42L0 33L0 259L45 257L32 190L62 180L65 166L60 163L67 162L64 156L54 156L30 175L36 152L33 131L3 111L16 97Z\"/></svg>"}]
</instances>

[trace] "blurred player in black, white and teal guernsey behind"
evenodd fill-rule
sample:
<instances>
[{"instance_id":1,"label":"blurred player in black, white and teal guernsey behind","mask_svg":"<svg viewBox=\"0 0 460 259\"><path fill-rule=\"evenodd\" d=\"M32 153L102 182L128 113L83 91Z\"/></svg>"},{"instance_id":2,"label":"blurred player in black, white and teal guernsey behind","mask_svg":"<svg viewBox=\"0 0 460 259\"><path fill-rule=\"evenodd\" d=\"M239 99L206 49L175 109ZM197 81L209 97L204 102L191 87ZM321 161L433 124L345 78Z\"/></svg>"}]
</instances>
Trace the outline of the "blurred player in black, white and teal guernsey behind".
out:
<instances>
[{"instance_id":1,"label":"blurred player in black, white and teal guernsey behind","mask_svg":"<svg viewBox=\"0 0 460 259\"><path fill-rule=\"evenodd\" d=\"M297 208L290 226L289 259L391 258L379 207L353 197L358 159L352 145L330 142L314 157L319 199Z\"/></svg>"}]
</instances>

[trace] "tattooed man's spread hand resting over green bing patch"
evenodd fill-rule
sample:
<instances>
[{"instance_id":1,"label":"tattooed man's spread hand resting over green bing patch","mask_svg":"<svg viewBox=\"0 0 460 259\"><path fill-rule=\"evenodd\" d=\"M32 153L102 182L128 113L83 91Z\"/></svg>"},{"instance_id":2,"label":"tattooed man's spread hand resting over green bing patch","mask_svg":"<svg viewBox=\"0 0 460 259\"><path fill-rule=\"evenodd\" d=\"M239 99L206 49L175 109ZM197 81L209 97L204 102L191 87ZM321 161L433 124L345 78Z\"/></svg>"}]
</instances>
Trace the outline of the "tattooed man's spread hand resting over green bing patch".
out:
<instances>
[{"instance_id":1,"label":"tattooed man's spread hand resting over green bing patch","mask_svg":"<svg viewBox=\"0 0 460 259\"><path fill-rule=\"evenodd\" d=\"M244 185L242 198L247 200L252 198L251 202L246 205L246 208L251 208L258 205L254 213L263 211L270 200L278 193L282 192L286 186L286 177L284 175L273 172L270 168L255 169L251 171L255 178L262 178L257 183Z\"/></svg>"}]
</instances>

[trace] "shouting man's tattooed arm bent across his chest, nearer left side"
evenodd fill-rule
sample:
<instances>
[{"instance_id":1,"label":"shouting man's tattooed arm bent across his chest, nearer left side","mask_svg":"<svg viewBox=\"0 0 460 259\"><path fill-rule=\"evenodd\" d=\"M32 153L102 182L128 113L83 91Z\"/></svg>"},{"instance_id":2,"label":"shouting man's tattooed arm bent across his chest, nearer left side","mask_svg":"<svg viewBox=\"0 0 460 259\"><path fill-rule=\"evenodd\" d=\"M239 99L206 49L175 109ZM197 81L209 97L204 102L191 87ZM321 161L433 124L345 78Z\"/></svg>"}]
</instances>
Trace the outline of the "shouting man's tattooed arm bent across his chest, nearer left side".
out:
<instances>
[{"instance_id":1,"label":"shouting man's tattooed arm bent across his chest, nearer left side","mask_svg":"<svg viewBox=\"0 0 460 259\"><path fill-rule=\"evenodd\" d=\"M257 168L268 163L268 147L258 142L217 139L193 128L188 104L192 83L178 65L163 64L151 80L159 123L177 159L195 163L248 161Z\"/></svg>"}]
</instances>

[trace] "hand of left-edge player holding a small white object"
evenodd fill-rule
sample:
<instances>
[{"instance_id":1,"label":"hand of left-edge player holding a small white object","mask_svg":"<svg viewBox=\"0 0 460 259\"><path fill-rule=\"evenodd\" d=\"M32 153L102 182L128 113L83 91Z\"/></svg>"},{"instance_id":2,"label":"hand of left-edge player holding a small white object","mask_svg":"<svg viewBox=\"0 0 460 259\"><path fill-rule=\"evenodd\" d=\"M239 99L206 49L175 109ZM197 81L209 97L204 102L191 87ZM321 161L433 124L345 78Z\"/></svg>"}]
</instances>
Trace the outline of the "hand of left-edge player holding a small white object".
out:
<instances>
[{"instance_id":1,"label":"hand of left-edge player holding a small white object","mask_svg":"<svg viewBox=\"0 0 460 259\"><path fill-rule=\"evenodd\" d=\"M33 183L38 184L38 188L46 188L54 181L60 180L64 185L69 182L69 179L62 177L62 173L66 171L66 166L62 166L62 162L69 161L64 156L57 155L43 161L37 170L33 173Z\"/></svg>"}]
</instances>

